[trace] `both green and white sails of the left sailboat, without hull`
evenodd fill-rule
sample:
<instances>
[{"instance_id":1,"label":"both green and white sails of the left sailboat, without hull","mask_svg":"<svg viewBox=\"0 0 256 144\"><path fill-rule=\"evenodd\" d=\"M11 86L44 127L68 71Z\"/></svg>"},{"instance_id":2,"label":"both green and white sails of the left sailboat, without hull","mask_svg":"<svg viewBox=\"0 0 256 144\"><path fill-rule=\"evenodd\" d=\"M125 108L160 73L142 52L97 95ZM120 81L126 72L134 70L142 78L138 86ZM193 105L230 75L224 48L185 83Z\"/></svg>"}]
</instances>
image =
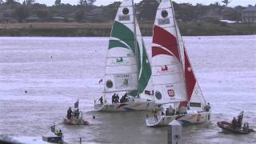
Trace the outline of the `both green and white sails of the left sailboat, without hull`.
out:
<instances>
[{"instance_id":1,"label":"both green and white sails of the left sailboat, without hull","mask_svg":"<svg viewBox=\"0 0 256 144\"><path fill-rule=\"evenodd\" d=\"M124 91L143 97L144 91L150 89L150 76L150 62L138 22L134 18L133 1L123 0L110 35L104 91Z\"/></svg>"}]
</instances>

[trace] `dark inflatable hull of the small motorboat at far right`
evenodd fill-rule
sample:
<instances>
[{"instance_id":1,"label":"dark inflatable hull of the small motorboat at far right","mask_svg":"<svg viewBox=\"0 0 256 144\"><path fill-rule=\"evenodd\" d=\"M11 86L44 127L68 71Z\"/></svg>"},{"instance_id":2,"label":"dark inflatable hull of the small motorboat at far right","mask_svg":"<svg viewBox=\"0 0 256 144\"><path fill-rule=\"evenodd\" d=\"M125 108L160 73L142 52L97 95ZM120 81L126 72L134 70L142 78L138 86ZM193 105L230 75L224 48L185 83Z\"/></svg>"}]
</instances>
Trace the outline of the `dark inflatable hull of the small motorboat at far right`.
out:
<instances>
[{"instance_id":1,"label":"dark inflatable hull of the small motorboat at far right","mask_svg":"<svg viewBox=\"0 0 256 144\"><path fill-rule=\"evenodd\" d=\"M250 134L251 132L254 132L253 129L249 128L248 122L244 123L244 126L242 129L235 129L234 126L232 126L232 123L230 122L217 122L218 127L222 128L224 131L228 131L234 134Z\"/></svg>"}]
</instances>

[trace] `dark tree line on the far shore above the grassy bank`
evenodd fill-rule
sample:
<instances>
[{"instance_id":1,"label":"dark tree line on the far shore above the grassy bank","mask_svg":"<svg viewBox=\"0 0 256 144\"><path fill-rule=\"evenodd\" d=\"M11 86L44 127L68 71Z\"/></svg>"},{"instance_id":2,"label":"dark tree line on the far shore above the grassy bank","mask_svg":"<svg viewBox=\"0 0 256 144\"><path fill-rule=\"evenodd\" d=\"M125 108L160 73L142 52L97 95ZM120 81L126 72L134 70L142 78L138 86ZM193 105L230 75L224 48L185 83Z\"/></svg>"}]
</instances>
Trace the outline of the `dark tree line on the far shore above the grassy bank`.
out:
<instances>
[{"instance_id":1,"label":"dark tree line on the far shore above the grassy bank","mask_svg":"<svg viewBox=\"0 0 256 144\"><path fill-rule=\"evenodd\" d=\"M18 22L27 22L34 18L38 22L52 22L59 18L65 22L112 22L121 2L113 2L107 6L94 6L96 0L78 0L77 5L63 4L55 0L53 6L39 4L36 0L0 0L0 14L4 18L14 18ZM209 6L200 3L174 2L174 10L181 22L218 22L219 19L241 21L243 6L228 7L230 0L222 3L214 2ZM142 0L135 4L139 21L154 22L158 0ZM7 11L7 12L6 12ZM1 15L0 15L1 18Z\"/></svg>"}]
</instances>

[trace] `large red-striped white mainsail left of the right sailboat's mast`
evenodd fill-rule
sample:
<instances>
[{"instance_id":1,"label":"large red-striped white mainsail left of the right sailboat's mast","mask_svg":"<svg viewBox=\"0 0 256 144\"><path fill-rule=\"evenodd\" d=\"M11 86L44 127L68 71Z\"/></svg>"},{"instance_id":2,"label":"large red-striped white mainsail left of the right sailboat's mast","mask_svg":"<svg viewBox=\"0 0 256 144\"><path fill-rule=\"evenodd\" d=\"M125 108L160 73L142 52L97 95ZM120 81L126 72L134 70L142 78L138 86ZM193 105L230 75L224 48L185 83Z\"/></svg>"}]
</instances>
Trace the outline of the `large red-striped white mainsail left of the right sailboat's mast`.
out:
<instances>
[{"instance_id":1,"label":"large red-striped white mainsail left of the right sailboat's mast","mask_svg":"<svg viewBox=\"0 0 256 144\"><path fill-rule=\"evenodd\" d=\"M154 22L152 69L156 103L186 102L186 86L170 0L162 0Z\"/></svg>"}]
</instances>

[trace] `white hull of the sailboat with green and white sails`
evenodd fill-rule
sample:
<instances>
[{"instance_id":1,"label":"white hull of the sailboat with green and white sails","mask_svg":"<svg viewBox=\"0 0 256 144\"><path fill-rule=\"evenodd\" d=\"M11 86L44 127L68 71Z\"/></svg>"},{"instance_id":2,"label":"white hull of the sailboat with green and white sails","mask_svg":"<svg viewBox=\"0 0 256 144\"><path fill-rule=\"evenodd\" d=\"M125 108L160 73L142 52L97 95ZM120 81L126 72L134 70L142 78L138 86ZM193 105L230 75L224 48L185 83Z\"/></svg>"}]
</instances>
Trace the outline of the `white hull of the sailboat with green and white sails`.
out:
<instances>
[{"instance_id":1,"label":"white hull of the sailboat with green and white sails","mask_svg":"<svg viewBox=\"0 0 256 144\"><path fill-rule=\"evenodd\" d=\"M94 109L98 111L114 112L114 111L137 111L137 110L153 110L154 102L125 102L125 103L106 103L103 105L94 104Z\"/></svg>"}]
</instances>

